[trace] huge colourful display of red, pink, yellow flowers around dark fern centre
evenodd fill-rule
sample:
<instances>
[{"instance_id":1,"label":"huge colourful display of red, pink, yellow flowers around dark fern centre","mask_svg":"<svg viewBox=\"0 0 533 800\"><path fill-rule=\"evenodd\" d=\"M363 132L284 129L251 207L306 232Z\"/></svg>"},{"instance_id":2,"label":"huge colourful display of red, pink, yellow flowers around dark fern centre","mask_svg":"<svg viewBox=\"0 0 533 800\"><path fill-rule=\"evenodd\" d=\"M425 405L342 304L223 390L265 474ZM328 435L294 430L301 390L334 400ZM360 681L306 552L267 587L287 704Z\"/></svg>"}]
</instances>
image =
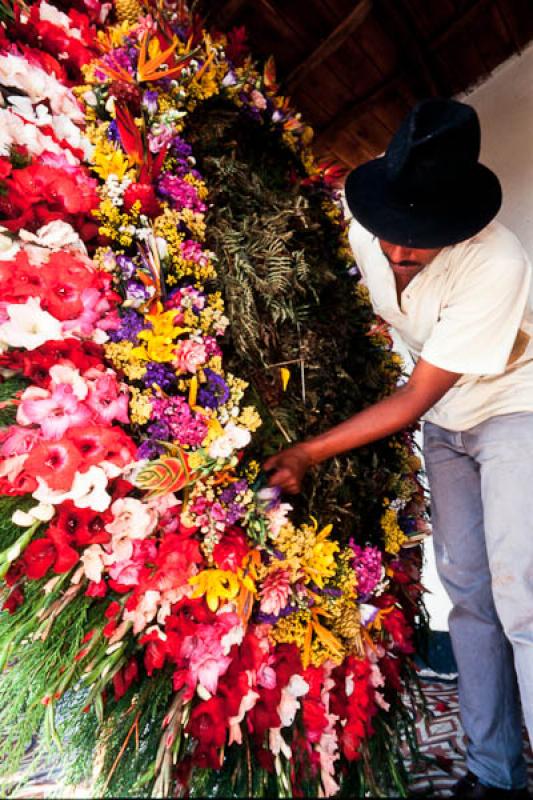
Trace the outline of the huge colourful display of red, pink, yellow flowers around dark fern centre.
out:
<instances>
[{"instance_id":1,"label":"huge colourful display of red, pink, yellow flowers around dark fern centre","mask_svg":"<svg viewBox=\"0 0 533 800\"><path fill-rule=\"evenodd\" d=\"M0 109L2 702L25 691L0 720L27 725L6 768L44 726L78 748L73 775L99 749L101 793L399 789L387 721L409 731L418 465L397 440L384 549L295 521L264 487L187 125L222 97L271 126L346 260L335 170L242 31L157 8L105 27L108 10L38 0L0 29L0 82L19 91Z\"/></svg>"}]
</instances>

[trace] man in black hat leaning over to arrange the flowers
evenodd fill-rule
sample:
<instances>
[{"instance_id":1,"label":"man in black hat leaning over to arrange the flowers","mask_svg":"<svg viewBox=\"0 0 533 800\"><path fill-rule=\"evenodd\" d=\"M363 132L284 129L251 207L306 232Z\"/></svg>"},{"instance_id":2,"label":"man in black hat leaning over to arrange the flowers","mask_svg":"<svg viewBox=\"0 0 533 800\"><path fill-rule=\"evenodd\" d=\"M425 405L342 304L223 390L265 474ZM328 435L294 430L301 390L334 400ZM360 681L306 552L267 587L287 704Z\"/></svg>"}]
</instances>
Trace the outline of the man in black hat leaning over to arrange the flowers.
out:
<instances>
[{"instance_id":1,"label":"man in black hat leaning over to arrange the flowers","mask_svg":"<svg viewBox=\"0 0 533 800\"><path fill-rule=\"evenodd\" d=\"M531 266L493 221L498 179L479 121L419 103L381 158L350 173L350 242L375 311L416 360L409 381L341 425L268 459L270 483L424 419L437 567L468 737L455 797L526 797L520 698L533 740ZM517 680L518 679L518 680Z\"/></svg>"}]
</instances>

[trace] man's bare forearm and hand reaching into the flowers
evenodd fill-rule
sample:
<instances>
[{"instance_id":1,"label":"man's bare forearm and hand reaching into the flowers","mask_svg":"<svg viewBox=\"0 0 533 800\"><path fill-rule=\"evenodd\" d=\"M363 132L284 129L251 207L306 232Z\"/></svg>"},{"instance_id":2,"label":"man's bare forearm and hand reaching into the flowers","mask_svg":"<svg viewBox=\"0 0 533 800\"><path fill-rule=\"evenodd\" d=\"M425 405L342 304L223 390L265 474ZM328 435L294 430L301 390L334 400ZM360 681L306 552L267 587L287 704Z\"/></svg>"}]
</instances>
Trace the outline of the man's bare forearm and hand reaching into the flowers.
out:
<instances>
[{"instance_id":1,"label":"man's bare forearm and hand reaching into the flowers","mask_svg":"<svg viewBox=\"0 0 533 800\"><path fill-rule=\"evenodd\" d=\"M406 428L434 406L460 377L457 372L420 359L409 381L394 394L320 436L267 459L265 469L273 470L269 483L296 494L308 467Z\"/></svg>"}]
</instances>

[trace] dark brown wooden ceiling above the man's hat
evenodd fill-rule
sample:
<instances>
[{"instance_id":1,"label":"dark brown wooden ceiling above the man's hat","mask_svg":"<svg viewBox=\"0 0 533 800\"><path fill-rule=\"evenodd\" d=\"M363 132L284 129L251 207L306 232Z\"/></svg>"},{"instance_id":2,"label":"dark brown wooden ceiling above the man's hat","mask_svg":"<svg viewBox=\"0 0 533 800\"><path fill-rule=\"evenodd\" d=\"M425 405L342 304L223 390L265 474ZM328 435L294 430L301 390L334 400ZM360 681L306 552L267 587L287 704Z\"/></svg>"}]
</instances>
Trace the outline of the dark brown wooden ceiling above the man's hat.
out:
<instances>
[{"instance_id":1,"label":"dark brown wooden ceiling above the man's hat","mask_svg":"<svg viewBox=\"0 0 533 800\"><path fill-rule=\"evenodd\" d=\"M208 24L244 25L274 55L281 92L321 155L382 152L419 99L478 83L533 38L533 0L200 0Z\"/></svg>"}]
</instances>

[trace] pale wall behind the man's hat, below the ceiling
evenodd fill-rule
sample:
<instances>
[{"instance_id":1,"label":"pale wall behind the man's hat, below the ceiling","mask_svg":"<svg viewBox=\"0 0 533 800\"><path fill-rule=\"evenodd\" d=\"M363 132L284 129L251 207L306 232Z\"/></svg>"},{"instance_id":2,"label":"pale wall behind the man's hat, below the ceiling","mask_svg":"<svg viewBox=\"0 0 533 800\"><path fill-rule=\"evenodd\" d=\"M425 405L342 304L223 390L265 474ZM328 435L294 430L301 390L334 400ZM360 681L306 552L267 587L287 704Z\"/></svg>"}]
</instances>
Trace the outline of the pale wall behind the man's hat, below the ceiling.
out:
<instances>
[{"instance_id":1,"label":"pale wall behind the man's hat, below the ceiling","mask_svg":"<svg viewBox=\"0 0 533 800\"><path fill-rule=\"evenodd\" d=\"M481 162L502 184L498 219L533 261L533 43L460 99L479 114Z\"/></svg>"}]
</instances>

